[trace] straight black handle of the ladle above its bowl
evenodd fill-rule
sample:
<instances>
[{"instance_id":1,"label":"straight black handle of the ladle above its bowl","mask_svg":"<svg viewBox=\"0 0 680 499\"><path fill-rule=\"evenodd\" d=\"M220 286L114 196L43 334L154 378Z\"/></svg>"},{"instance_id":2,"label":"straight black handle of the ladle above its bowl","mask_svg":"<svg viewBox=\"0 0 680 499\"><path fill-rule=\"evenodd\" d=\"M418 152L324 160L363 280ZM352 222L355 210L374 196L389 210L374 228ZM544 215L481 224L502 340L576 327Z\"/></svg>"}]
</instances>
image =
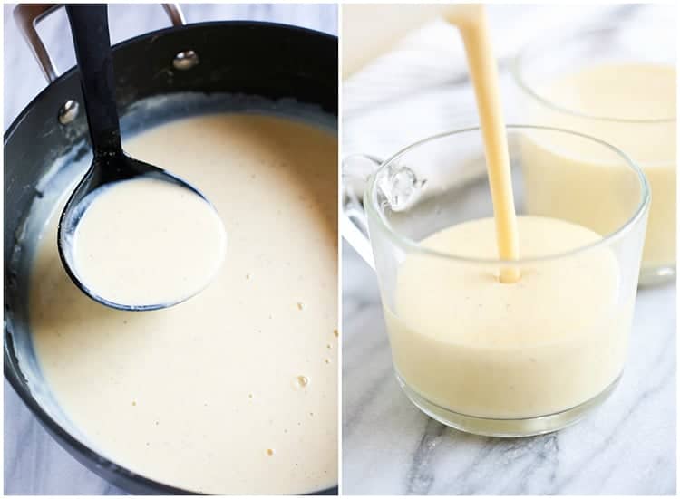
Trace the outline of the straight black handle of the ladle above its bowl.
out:
<instances>
[{"instance_id":1,"label":"straight black handle of the ladle above its bowl","mask_svg":"<svg viewBox=\"0 0 680 499\"><path fill-rule=\"evenodd\" d=\"M66 5L94 156L121 153L109 18L105 4Z\"/></svg>"}]
</instances>

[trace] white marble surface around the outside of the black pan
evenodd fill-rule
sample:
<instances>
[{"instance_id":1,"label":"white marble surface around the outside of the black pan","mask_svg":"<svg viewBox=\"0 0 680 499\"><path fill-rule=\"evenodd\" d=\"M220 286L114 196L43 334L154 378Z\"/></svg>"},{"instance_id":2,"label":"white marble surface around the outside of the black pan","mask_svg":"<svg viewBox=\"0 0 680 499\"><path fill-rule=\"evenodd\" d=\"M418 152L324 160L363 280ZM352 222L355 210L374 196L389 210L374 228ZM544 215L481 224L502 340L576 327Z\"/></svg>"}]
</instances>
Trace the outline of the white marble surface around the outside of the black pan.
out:
<instances>
[{"instance_id":1,"label":"white marble surface around the outside of the black pan","mask_svg":"<svg viewBox=\"0 0 680 499\"><path fill-rule=\"evenodd\" d=\"M181 5L189 23L248 19L296 24L337 34L335 5ZM5 14L5 130L41 91L44 78ZM113 43L169 25L160 5L112 5ZM63 11L40 24L39 31L57 68L73 66L75 57ZM5 381L5 494L122 494L69 456L49 437Z\"/></svg>"}]
</instances>

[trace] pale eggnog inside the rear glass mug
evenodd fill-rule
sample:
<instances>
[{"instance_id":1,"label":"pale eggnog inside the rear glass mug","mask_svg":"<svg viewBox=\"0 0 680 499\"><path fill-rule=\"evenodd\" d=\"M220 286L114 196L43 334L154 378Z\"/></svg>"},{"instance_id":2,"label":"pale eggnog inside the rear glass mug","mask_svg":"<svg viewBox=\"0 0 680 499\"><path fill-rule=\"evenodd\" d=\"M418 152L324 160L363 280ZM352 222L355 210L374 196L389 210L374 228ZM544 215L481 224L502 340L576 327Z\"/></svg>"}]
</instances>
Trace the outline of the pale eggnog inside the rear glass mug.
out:
<instances>
[{"instance_id":1,"label":"pale eggnog inside the rear glass mug","mask_svg":"<svg viewBox=\"0 0 680 499\"><path fill-rule=\"evenodd\" d=\"M550 105L529 100L532 122L605 140L643 168L652 191L643 270L675 265L675 91L672 66L617 63L584 68L541 85L537 92ZM613 168L604 148L574 149L568 138L546 137L550 139L534 141L532 153L527 151L529 211L572 220L601 235L611 233L625 220L609 209L613 204L607 207L600 196L583 193L597 188L606 195L627 168Z\"/></svg>"}]
</instances>

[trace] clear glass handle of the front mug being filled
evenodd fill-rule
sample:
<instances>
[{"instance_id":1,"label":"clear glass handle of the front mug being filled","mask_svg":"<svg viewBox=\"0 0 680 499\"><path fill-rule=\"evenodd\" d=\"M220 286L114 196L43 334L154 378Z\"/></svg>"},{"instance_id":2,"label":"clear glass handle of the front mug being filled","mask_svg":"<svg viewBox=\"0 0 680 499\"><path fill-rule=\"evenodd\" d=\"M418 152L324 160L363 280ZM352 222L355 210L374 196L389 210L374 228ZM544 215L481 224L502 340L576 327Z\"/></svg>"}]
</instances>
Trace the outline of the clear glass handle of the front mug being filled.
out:
<instances>
[{"instance_id":1,"label":"clear glass handle of the front mug being filled","mask_svg":"<svg viewBox=\"0 0 680 499\"><path fill-rule=\"evenodd\" d=\"M342 216L340 229L345 241L375 270L373 249L368 235L368 220L364 209L364 190L368 179L382 164L367 154L352 154L342 162Z\"/></svg>"}]
</instances>

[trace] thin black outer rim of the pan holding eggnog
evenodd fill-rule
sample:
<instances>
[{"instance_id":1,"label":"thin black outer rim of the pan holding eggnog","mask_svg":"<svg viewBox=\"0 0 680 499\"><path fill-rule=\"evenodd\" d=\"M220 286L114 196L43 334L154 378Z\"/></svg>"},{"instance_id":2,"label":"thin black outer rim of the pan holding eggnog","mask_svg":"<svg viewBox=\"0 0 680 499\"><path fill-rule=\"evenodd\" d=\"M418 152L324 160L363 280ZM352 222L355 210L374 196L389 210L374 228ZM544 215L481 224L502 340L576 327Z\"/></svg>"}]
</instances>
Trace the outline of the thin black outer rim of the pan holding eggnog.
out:
<instances>
[{"instance_id":1,"label":"thin black outer rim of the pan holding eggnog","mask_svg":"<svg viewBox=\"0 0 680 499\"><path fill-rule=\"evenodd\" d=\"M272 28L275 30L280 30L280 31L286 31L286 32L299 32L303 34L313 34L315 36L325 38L326 40L329 41L335 41L337 43L337 36L332 35L332 34L326 34L323 32L319 32L316 30L312 30L309 28L304 28L300 26L295 26L295 25L290 25L290 24L280 24L280 23L271 23L271 22L262 22L262 21L209 21L209 22L204 22L204 23L194 23L194 24L185 24L182 26L177 26L177 27L170 27L170 28L163 28L160 30L156 30L153 32L149 32L146 34L140 34L138 36L135 36L134 38L131 38L129 40L124 40L121 43L116 43L113 45L112 49L113 51L116 51L120 48L126 47L128 45L134 44L134 43L140 43L143 42L149 38L153 38L154 36L159 36L163 34L173 34L173 33L179 33L182 31L190 31L190 30L196 30L200 28L205 28L205 27L224 27L228 28L231 26L241 26L241 27L264 27L264 28ZM42 91L40 91L34 99L32 99L25 107L24 109L19 113L19 115L15 118L15 120L12 121L12 124L7 128L4 134L4 145L6 146L7 141L12 139L12 136L14 135L15 130L21 125L21 123L24 121L25 117L28 115L29 112L34 108L36 103L38 101L41 101L44 99L44 95L48 91L53 91L53 87L55 85L58 85L59 83L63 82L67 78L73 77L73 74L77 72L77 68L73 66L69 70L63 72L61 75L59 75L53 82L50 82ZM7 273L5 272L5 291L7 289ZM92 450L90 446L87 446L83 442L81 442L78 438L73 437L71 433L69 433L67 430L65 430L61 425L59 425L50 415L48 415L44 409L37 403L37 401L33 398L33 396L28 392L28 390L24 387L24 383L19 379L17 372L20 372L18 369L12 369L10 366L16 365L18 366L18 360L14 359L13 356L10 354L10 351L8 350L8 340L11 341L12 338L12 331L11 329L11 321L7 320L8 317L11 317L11 313L9 312L11 310L8 300L7 300L7 295L5 293L5 341L4 341L4 372L5 372L5 379L7 379L12 386L12 388L15 390L15 393L19 396L19 398L22 399L24 402L24 405L34 414L34 417L38 419L40 424L48 430L48 433L53 433L56 435L58 438L55 438L57 443L60 446L64 446L64 443L68 446L71 446L74 451L76 451L80 456L83 456L83 458L87 459L88 461L94 463L95 465L99 467L105 467L108 468L112 471L114 475L120 475L126 480L130 480L131 482L134 482L138 485L141 485L142 487L153 490L155 494L169 494L169 495L196 495L199 494L197 492L193 491L188 491L185 489L181 489L178 487L174 487L172 485L166 485L162 484L160 482L156 482L155 480L151 480L151 478L147 478L143 475L136 474L132 472L130 469L117 465L114 462L112 462L110 459L100 455L96 451ZM63 440L62 441L60 441ZM318 492L312 492L309 493L309 495L336 495L338 494L338 487L335 485L335 487L330 487L325 490L321 490Z\"/></svg>"}]
</instances>

